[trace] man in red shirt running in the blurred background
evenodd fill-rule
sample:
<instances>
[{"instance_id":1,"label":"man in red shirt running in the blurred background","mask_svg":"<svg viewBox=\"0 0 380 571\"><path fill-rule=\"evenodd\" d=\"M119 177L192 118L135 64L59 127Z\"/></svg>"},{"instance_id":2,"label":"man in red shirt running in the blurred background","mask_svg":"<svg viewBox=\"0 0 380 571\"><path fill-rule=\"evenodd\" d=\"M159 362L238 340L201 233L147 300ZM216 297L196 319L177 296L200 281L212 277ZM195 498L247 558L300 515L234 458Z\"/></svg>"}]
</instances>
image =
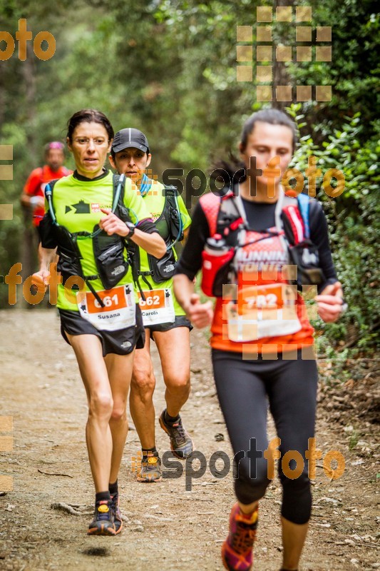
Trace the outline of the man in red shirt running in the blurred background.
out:
<instances>
[{"instance_id":1,"label":"man in red shirt running in the blurred background","mask_svg":"<svg viewBox=\"0 0 380 571\"><path fill-rule=\"evenodd\" d=\"M68 176L72 172L63 166L64 160L63 143L58 141L47 143L45 146L46 164L31 171L21 193L20 201L24 211L24 243L22 245L24 278L31 276L35 271L39 242L38 225L45 213L43 192L45 186L48 182Z\"/></svg>"}]
</instances>

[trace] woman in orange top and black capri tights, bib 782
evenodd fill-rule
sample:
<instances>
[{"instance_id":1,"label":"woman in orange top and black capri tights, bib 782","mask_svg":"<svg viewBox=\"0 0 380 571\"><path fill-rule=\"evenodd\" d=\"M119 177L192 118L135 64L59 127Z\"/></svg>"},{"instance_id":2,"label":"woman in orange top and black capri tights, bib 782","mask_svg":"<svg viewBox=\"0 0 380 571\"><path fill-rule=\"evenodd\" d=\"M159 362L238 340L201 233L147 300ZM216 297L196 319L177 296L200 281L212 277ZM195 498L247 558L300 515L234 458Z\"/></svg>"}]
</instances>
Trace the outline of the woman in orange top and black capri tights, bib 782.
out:
<instances>
[{"instance_id":1,"label":"woman in orange top and black capri tights, bib 782","mask_svg":"<svg viewBox=\"0 0 380 571\"><path fill-rule=\"evenodd\" d=\"M197 328L212 323L217 394L238 463L237 503L222 545L223 563L230 571L252 569L258 500L274 477L272 463L267 461L271 453L265 453L268 400L277 428L277 455L282 458L292 451L294 458L296 451L298 458L297 462L279 462L284 571L297 570L312 507L307 450L309 438L314 437L317 403L313 329L301 296L286 279L287 246L279 229L284 204L281 178L295 143L294 123L282 111L259 111L245 123L240 156L247 176L234 186L232 197L244 222L239 235L242 246L234 259L237 278L232 290L224 288L225 295L217 298L215 309L210 301L200 303L192 280L202 266L207 238L215 236L221 196L210 193L200 198L175 276L175 295L188 318ZM227 163L222 168L230 174L236 171ZM324 274L315 298L318 313L325 322L334 322L344 308L342 287L332 263L324 213L314 200L309 203L309 226ZM220 238L228 243L228 236ZM212 269L217 258L210 259Z\"/></svg>"}]
</instances>

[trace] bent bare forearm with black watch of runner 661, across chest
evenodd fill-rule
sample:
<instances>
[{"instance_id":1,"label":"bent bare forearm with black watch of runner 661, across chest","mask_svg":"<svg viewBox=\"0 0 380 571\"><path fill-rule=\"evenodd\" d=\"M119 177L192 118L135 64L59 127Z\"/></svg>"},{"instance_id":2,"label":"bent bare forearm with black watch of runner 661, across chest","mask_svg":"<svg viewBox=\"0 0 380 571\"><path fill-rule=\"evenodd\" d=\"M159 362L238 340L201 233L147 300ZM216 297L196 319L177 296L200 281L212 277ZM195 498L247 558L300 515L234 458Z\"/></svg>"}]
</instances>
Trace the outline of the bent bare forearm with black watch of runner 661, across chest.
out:
<instances>
[{"instance_id":1,"label":"bent bare forearm with black watch of runner 661, across chest","mask_svg":"<svg viewBox=\"0 0 380 571\"><path fill-rule=\"evenodd\" d=\"M99 222L102 230L108 233L109 236L118 234L118 236L128 238L130 233L128 226L118 216L113 214L109 208L101 208L101 211L107 215L105 218L101 218ZM162 258L166 252L165 242L158 232L148 234L148 232L143 232L136 228L133 237L130 239L137 246L148 252L148 254L155 256L155 258Z\"/></svg>"}]
</instances>

